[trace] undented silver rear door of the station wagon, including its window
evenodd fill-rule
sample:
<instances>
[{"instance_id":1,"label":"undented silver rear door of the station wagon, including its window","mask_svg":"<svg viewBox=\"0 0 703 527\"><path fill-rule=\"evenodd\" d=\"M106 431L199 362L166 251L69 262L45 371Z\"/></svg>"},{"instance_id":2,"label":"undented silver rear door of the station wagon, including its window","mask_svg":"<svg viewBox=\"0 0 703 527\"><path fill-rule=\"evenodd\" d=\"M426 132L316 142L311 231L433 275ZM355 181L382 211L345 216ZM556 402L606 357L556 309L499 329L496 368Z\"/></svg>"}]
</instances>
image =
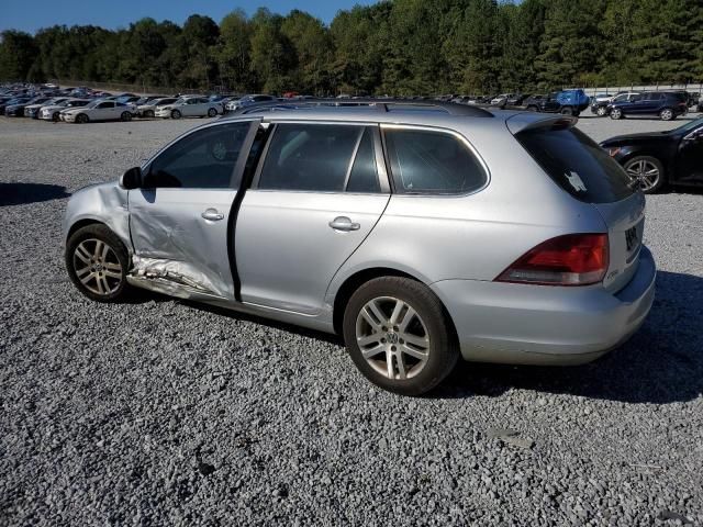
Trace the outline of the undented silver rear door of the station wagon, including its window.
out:
<instances>
[{"instance_id":1,"label":"undented silver rear door of the station wagon, including its window","mask_svg":"<svg viewBox=\"0 0 703 527\"><path fill-rule=\"evenodd\" d=\"M389 183L378 125L279 123L235 231L243 302L314 315L381 217Z\"/></svg>"}]
</instances>

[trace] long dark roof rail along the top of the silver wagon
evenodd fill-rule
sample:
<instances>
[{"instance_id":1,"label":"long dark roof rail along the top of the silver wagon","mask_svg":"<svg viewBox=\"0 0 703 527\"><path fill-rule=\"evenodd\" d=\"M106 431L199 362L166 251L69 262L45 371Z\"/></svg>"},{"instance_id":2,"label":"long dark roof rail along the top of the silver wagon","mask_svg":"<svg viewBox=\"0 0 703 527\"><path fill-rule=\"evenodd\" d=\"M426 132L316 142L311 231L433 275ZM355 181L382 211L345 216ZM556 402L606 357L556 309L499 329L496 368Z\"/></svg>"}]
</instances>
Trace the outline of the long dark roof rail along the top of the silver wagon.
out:
<instances>
[{"instance_id":1,"label":"long dark roof rail along the top of the silver wagon","mask_svg":"<svg viewBox=\"0 0 703 527\"><path fill-rule=\"evenodd\" d=\"M290 101L266 101L236 109L234 115L245 115L249 113L267 112L275 110L299 110L304 108L352 108L372 106L381 112L391 111L389 106L409 106L408 109L438 109L444 110L449 115L464 115L470 117L492 117L488 110L467 104L458 104L448 101L432 100L406 100L406 99L291 99Z\"/></svg>"}]
</instances>

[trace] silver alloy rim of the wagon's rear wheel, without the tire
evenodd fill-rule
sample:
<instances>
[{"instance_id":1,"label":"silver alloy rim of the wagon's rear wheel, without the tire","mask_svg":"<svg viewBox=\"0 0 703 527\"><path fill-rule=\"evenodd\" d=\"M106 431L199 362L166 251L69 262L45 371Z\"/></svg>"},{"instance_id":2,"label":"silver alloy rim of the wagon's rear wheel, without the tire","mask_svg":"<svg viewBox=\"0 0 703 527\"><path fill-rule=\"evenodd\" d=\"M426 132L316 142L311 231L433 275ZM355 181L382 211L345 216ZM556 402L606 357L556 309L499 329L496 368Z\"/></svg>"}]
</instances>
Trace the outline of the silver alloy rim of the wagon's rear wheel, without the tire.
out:
<instances>
[{"instance_id":1,"label":"silver alloy rim of the wagon's rear wheel, without the tire","mask_svg":"<svg viewBox=\"0 0 703 527\"><path fill-rule=\"evenodd\" d=\"M392 380L412 379L429 358L429 333L417 312L393 296L367 302L356 318L356 341L371 368Z\"/></svg>"}]
</instances>

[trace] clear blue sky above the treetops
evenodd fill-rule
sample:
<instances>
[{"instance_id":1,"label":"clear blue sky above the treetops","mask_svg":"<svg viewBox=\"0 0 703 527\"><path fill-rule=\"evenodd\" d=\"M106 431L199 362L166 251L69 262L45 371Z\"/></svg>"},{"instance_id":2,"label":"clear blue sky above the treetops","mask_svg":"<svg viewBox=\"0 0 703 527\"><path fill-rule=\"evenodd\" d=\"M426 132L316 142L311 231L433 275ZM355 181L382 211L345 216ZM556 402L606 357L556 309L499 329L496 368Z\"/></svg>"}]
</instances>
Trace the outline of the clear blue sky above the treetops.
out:
<instances>
[{"instance_id":1,"label":"clear blue sky above the treetops","mask_svg":"<svg viewBox=\"0 0 703 527\"><path fill-rule=\"evenodd\" d=\"M182 24L191 14L205 14L220 23L236 8L252 15L259 7L287 14L292 9L306 11L330 23L341 9L372 0L1 0L0 31L22 30L34 33L42 27L59 25L100 25L109 30L127 27L144 16Z\"/></svg>"}]
</instances>

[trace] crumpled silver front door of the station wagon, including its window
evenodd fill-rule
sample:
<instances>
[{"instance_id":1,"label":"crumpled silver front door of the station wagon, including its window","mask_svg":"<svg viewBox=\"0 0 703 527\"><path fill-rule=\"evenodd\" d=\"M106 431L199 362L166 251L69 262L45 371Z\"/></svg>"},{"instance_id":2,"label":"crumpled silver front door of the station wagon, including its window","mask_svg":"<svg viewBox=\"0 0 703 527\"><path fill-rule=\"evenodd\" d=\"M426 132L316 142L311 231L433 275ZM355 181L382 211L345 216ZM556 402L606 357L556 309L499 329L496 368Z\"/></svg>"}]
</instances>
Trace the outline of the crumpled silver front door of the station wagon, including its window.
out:
<instances>
[{"instance_id":1,"label":"crumpled silver front door of the station wagon, including its window","mask_svg":"<svg viewBox=\"0 0 703 527\"><path fill-rule=\"evenodd\" d=\"M230 216L257 126L198 128L144 168L143 188L129 197L137 273L234 300Z\"/></svg>"}]
</instances>

